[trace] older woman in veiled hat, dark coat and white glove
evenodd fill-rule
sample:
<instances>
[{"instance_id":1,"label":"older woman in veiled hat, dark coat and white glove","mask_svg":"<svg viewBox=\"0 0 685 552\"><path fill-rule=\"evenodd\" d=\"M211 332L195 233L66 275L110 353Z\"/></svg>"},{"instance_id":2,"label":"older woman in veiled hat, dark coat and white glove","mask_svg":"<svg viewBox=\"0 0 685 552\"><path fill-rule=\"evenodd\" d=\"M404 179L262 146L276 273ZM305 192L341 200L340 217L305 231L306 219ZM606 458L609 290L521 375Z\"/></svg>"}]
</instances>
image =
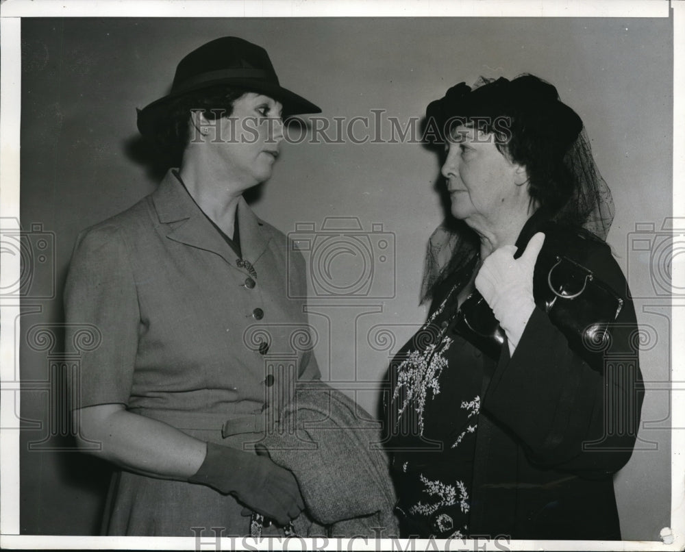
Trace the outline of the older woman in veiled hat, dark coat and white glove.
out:
<instances>
[{"instance_id":1,"label":"older woman in veiled hat, dark coat and white glove","mask_svg":"<svg viewBox=\"0 0 685 552\"><path fill-rule=\"evenodd\" d=\"M612 476L643 394L611 195L556 88L479 85L427 108L456 220L430 240L429 316L390 366L403 536L618 540Z\"/></svg>"}]
</instances>

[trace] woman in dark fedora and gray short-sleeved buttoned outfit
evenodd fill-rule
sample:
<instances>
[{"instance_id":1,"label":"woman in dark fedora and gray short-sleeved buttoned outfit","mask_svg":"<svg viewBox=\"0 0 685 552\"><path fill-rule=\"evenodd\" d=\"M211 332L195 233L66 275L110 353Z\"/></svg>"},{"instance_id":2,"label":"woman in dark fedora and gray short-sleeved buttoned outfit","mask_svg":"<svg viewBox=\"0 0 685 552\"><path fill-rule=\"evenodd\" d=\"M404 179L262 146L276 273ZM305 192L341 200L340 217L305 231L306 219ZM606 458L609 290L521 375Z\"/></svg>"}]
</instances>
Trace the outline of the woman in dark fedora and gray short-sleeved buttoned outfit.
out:
<instances>
[{"instance_id":1,"label":"woman in dark fedora and gray short-sleeved buttoned outfit","mask_svg":"<svg viewBox=\"0 0 685 552\"><path fill-rule=\"evenodd\" d=\"M120 468L104 534L245 535L251 512L283 534L303 509L295 477L255 443L295 379L319 378L310 350L291 346L308 332L288 297L303 296L304 261L242 192L271 176L284 118L320 111L279 85L264 49L225 37L188 54L171 93L138 113L177 168L79 235L64 295L67 325L101 338L73 407L79 436ZM290 369L267 353L291 355Z\"/></svg>"}]
</instances>

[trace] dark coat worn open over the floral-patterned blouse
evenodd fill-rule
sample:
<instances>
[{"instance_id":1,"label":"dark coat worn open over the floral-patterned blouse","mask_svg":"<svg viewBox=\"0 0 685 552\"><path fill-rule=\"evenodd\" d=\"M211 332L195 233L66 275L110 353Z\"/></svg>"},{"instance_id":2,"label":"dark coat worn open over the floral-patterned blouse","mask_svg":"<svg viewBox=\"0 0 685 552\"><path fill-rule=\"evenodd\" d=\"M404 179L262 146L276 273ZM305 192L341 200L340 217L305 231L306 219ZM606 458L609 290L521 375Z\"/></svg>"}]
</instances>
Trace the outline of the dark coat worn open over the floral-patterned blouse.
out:
<instances>
[{"instance_id":1,"label":"dark coat worn open over the floral-patterned blouse","mask_svg":"<svg viewBox=\"0 0 685 552\"><path fill-rule=\"evenodd\" d=\"M634 308L605 243L532 217L517 245L525 248L538 230L546 233L543 252L568 255L593 271L623 308L603 366L582 360L539 307L512 357L506 345L498 360L478 355L483 384L469 535L619 540L612 475L630 459L643 401ZM459 507L441 507L431 519L458 514ZM406 534L447 536L430 520L407 519L404 527Z\"/></svg>"}]
</instances>

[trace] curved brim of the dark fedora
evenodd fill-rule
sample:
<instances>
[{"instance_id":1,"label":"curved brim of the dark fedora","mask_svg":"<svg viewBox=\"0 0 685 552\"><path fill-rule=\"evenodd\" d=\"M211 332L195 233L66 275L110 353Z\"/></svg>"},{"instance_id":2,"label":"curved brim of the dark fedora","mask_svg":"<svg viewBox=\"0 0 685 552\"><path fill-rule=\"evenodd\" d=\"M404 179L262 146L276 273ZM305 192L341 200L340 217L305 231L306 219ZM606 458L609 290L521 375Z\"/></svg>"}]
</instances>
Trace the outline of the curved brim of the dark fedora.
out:
<instances>
[{"instance_id":1,"label":"curved brim of the dark fedora","mask_svg":"<svg viewBox=\"0 0 685 552\"><path fill-rule=\"evenodd\" d=\"M242 89L245 92L259 92L269 96L283 104L284 118L306 113L321 113L321 108L318 105L314 105L314 103L295 94L295 92L291 92L277 84L258 79L224 78L204 81L201 84L177 90L153 101L142 110L138 110L138 131L140 131L142 136L153 138L160 124L166 120L173 101L188 95L190 92L197 92L198 90L218 85Z\"/></svg>"}]
</instances>

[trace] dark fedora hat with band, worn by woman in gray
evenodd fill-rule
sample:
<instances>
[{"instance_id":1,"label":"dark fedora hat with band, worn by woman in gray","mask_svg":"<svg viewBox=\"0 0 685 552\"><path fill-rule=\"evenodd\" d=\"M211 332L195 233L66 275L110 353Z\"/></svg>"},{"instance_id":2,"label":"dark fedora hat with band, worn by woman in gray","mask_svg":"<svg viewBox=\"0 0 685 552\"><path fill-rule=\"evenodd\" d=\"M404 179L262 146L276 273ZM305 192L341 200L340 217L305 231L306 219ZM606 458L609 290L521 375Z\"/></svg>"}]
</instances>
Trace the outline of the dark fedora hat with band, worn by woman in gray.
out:
<instances>
[{"instance_id":1,"label":"dark fedora hat with band, worn by woman in gray","mask_svg":"<svg viewBox=\"0 0 685 552\"><path fill-rule=\"evenodd\" d=\"M224 36L193 50L179 62L169 94L138 110L140 134L153 136L175 99L217 85L269 96L283 104L284 116L321 113L310 101L280 86L264 48L236 36Z\"/></svg>"}]
</instances>

